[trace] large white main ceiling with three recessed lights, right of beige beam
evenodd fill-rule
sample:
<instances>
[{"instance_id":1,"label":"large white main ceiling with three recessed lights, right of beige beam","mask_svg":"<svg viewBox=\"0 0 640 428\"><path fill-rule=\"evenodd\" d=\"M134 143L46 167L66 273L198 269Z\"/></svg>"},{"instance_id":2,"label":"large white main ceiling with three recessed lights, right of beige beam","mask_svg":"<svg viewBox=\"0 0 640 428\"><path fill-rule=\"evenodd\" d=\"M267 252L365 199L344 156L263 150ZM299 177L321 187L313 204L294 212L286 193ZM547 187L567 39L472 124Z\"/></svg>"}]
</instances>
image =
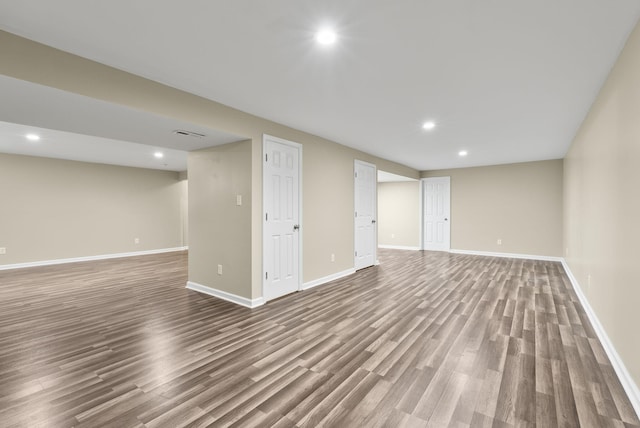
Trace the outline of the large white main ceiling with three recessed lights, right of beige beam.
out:
<instances>
[{"instance_id":1,"label":"large white main ceiling with three recessed lights, right of beige beam","mask_svg":"<svg viewBox=\"0 0 640 428\"><path fill-rule=\"evenodd\" d=\"M639 17L638 0L0 0L2 29L418 170L563 157Z\"/></svg>"}]
</instances>

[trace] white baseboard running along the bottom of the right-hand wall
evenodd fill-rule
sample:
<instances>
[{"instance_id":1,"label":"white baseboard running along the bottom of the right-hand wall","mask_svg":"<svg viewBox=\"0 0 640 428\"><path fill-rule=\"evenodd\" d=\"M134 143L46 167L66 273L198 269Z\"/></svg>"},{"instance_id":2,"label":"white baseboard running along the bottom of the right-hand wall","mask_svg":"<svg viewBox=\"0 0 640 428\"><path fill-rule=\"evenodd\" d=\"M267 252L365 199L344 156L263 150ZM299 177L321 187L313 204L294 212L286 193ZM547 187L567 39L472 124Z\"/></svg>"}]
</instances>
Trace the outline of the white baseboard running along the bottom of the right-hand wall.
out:
<instances>
[{"instance_id":1,"label":"white baseboard running along the bottom of the right-hand wall","mask_svg":"<svg viewBox=\"0 0 640 428\"><path fill-rule=\"evenodd\" d=\"M602 326L602 324L600 324L600 320L589 304L587 296L585 296L582 292L582 288L580 287L578 280L573 275L573 272L571 272L571 269L569 268L569 265L564 258L562 259L562 267L567 273L569 281L571 281L571 285L573 286L573 289L576 292L576 295L578 296L578 299L580 300L584 311L587 313L587 317L589 318L589 321L591 321L591 325L598 335L598 339L600 339L600 343L602 343L602 347L607 353L607 356L611 361L611 365L613 366L613 369L618 375L618 379L620 379L622 387L629 397L629 401L631 401L631 405L636 411L636 415L640 418L640 389L638 388L638 385L636 385L636 383L633 381L631 373L629 373L629 370L627 370L627 367L622 362L620 355L616 351L616 348L613 346L613 343L611 343L611 340L609 339L609 336L607 335L604 327Z\"/></svg>"}]
</instances>

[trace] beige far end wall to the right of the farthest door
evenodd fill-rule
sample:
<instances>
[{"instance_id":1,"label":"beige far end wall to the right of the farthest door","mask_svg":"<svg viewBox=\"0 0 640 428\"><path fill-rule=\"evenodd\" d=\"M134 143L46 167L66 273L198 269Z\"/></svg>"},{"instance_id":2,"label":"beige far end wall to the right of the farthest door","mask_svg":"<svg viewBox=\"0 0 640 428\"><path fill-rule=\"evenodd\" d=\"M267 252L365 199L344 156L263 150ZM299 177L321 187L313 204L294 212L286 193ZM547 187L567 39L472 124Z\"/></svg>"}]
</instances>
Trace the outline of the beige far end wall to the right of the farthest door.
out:
<instances>
[{"instance_id":1,"label":"beige far end wall to the right of the farthest door","mask_svg":"<svg viewBox=\"0 0 640 428\"><path fill-rule=\"evenodd\" d=\"M422 176L451 177L452 249L562 255L562 160Z\"/></svg>"}]
</instances>

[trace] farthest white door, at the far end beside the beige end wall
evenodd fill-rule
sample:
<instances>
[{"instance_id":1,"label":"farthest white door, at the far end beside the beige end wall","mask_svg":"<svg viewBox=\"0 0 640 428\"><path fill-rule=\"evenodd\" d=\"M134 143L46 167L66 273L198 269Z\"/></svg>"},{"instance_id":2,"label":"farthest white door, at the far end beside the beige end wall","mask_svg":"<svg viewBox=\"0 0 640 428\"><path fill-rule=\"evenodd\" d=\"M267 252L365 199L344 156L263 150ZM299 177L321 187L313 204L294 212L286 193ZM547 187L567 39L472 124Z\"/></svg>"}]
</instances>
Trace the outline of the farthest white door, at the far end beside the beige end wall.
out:
<instances>
[{"instance_id":1,"label":"farthest white door, at the far end beside the beige end wall","mask_svg":"<svg viewBox=\"0 0 640 428\"><path fill-rule=\"evenodd\" d=\"M449 251L450 247L450 178L422 180L424 191L424 249Z\"/></svg>"}]
</instances>

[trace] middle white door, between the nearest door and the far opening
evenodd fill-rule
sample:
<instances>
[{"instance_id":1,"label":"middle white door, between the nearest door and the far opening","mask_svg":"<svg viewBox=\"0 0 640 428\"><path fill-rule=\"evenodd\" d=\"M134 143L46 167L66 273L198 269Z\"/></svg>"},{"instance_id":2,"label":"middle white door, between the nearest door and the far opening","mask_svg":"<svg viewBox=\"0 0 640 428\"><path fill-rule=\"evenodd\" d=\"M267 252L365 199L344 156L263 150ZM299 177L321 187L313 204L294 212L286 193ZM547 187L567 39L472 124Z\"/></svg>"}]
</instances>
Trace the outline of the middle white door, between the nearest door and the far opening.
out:
<instances>
[{"instance_id":1,"label":"middle white door, between the nearest door and the far opening","mask_svg":"<svg viewBox=\"0 0 640 428\"><path fill-rule=\"evenodd\" d=\"M376 262L376 166L355 161L355 269L373 266Z\"/></svg>"}]
</instances>

